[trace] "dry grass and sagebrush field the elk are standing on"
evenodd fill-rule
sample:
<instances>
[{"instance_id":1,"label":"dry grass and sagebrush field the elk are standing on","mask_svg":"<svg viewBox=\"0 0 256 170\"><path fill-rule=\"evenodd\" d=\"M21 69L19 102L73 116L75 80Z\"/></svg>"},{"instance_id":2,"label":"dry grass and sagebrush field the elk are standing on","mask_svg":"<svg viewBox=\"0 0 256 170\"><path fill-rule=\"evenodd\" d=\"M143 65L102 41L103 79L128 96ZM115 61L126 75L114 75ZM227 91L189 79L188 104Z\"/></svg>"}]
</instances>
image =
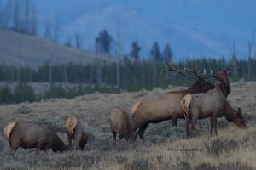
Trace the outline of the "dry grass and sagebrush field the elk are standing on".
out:
<instances>
[{"instance_id":1,"label":"dry grass and sagebrush field the elk are standing on","mask_svg":"<svg viewBox=\"0 0 256 170\"><path fill-rule=\"evenodd\" d=\"M172 87L180 89L182 87ZM121 94L90 94L75 99L49 99L20 105L0 106L0 168L1 169L256 169L256 82L234 82L229 101L241 107L247 117L247 129L236 127L224 118L218 119L218 137L210 137L208 120L197 124L197 137L186 139L184 122L177 127L171 122L151 124L145 141L121 140L113 144L108 111L119 106L131 111L137 101L163 94L167 90ZM170 90L170 89L168 89ZM24 113L24 109L31 109ZM25 111L26 112L26 111ZM3 137L8 122L48 124L67 144L64 122L67 116L84 116L91 127L93 139L84 151L55 154L51 150L36 154L35 150L9 152Z\"/></svg>"}]
</instances>

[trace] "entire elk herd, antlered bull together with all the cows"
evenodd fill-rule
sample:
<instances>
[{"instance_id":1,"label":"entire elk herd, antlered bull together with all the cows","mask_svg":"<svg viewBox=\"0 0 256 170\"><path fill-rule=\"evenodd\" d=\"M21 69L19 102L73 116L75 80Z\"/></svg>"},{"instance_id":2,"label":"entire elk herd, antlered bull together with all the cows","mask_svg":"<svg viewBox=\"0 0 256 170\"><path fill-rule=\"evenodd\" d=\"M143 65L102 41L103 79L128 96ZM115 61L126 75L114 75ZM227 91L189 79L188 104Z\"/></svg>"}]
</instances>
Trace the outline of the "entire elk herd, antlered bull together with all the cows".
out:
<instances>
[{"instance_id":1,"label":"entire elk herd, antlered bull together with all the cows","mask_svg":"<svg viewBox=\"0 0 256 170\"><path fill-rule=\"evenodd\" d=\"M167 71L175 72L195 79L195 83L188 89L170 91L152 99L139 101L131 107L131 113L125 112L120 108L114 108L109 113L109 123L113 133L113 140L116 135L119 139L135 141L137 136L144 139L144 132L149 123L159 123L172 120L172 125L177 126L178 119L185 119L185 132L189 137L189 124L191 124L195 135L195 126L198 119L210 121L211 135L217 135L217 118L224 116L227 121L235 123L238 127L246 127L246 119L241 114L241 108L237 111L233 109L227 100L230 94L230 69L218 71L214 78L218 81L215 84L206 80L213 76L212 71L209 75L206 70L203 73L192 68L178 70L175 65L170 65L166 60ZM58 135L47 126L38 126L25 122L10 122L4 127L3 132L9 142L11 150L18 147L24 149L37 148L39 150L52 149L56 151L64 150L84 150L88 144L91 133L90 127L84 119L69 116L65 123L67 131L68 146L58 137Z\"/></svg>"}]
</instances>

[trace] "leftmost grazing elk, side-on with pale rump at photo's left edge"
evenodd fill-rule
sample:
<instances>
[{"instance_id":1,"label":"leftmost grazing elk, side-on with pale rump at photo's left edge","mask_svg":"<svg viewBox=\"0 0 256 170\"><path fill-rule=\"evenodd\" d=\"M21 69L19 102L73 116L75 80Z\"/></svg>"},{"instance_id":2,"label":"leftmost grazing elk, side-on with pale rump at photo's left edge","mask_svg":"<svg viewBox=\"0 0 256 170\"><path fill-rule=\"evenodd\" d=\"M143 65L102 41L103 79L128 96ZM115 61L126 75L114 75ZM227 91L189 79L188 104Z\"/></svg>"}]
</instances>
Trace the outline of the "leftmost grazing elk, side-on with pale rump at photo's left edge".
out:
<instances>
[{"instance_id":1,"label":"leftmost grazing elk, side-on with pale rump at photo's left edge","mask_svg":"<svg viewBox=\"0 0 256 170\"><path fill-rule=\"evenodd\" d=\"M32 123L11 122L4 127L4 135L11 150L19 146L24 149L37 148L39 150L64 151L66 146L55 132L47 126L38 126Z\"/></svg>"}]
</instances>

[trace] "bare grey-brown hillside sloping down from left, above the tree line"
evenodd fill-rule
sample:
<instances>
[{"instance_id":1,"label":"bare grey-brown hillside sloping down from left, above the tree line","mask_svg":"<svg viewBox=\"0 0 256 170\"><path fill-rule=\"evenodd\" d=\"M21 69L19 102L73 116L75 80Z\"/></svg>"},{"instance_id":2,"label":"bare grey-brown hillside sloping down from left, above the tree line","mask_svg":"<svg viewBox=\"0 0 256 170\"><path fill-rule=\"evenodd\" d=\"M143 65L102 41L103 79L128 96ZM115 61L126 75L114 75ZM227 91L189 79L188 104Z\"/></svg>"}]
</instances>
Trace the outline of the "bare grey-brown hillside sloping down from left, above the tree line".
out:
<instances>
[{"instance_id":1,"label":"bare grey-brown hillside sloping down from left, above the tree line","mask_svg":"<svg viewBox=\"0 0 256 170\"><path fill-rule=\"evenodd\" d=\"M49 61L56 64L70 61L87 64L96 59L112 61L113 57L96 55L61 44L49 42L15 31L0 28L0 61L7 65L43 65Z\"/></svg>"}]
</instances>

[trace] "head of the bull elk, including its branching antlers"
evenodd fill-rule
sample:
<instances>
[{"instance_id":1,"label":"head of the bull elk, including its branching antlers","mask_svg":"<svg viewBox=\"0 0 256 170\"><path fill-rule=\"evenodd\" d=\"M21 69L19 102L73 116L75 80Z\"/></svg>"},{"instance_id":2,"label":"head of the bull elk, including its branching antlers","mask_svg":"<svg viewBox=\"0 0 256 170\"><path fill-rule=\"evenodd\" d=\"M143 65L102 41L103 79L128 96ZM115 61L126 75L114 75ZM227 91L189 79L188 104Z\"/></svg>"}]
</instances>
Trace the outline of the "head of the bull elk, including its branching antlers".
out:
<instances>
[{"instance_id":1,"label":"head of the bull elk, including its branching antlers","mask_svg":"<svg viewBox=\"0 0 256 170\"><path fill-rule=\"evenodd\" d=\"M212 77L213 71L209 75L207 75L207 71L204 69L204 72L202 74L199 74L198 71L195 71L195 63L192 62L192 68L186 68L184 66L183 69L177 69L176 65L172 66L169 64L169 59L166 58L166 65L168 66L168 69L166 71L162 71L160 74L163 74L167 71L173 71L176 74L183 75L184 77L189 77L192 79L195 79L196 82L192 86L197 89L198 93L206 93L208 90L214 88L215 86L211 82L207 82L206 79Z\"/></svg>"}]
</instances>

